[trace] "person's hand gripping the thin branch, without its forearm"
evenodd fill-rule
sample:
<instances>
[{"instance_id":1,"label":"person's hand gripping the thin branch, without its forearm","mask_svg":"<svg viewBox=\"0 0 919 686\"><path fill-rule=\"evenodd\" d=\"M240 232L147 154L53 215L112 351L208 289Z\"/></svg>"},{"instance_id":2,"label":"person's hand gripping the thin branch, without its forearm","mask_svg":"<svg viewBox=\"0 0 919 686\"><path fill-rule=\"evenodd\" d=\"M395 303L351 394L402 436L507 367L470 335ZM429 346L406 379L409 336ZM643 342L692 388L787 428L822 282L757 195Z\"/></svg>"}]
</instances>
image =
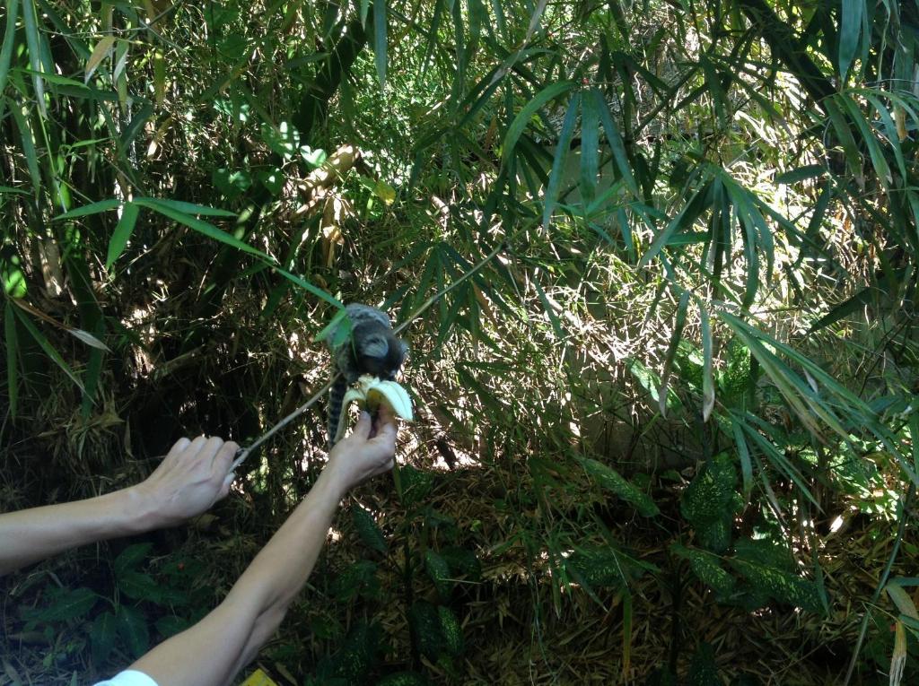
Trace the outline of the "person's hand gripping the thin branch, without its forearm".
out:
<instances>
[{"instance_id":1,"label":"person's hand gripping the thin branch, without its forearm","mask_svg":"<svg viewBox=\"0 0 919 686\"><path fill-rule=\"evenodd\" d=\"M230 492L230 465L239 445L222 438L180 438L159 467L134 487L158 526L175 526L205 512Z\"/></svg>"}]
</instances>

